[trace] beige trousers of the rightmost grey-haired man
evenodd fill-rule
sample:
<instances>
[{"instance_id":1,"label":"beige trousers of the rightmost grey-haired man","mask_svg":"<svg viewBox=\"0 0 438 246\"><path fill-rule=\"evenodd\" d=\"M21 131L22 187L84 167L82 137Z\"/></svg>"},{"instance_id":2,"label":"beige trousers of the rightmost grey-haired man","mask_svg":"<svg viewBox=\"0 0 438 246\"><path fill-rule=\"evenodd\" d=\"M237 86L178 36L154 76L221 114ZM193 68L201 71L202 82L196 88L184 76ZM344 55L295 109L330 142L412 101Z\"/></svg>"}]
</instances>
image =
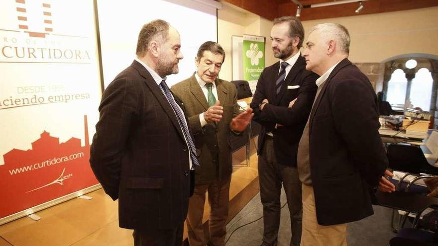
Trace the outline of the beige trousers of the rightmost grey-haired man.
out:
<instances>
[{"instance_id":1,"label":"beige trousers of the rightmost grey-haired man","mask_svg":"<svg viewBox=\"0 0 438 246\"><path fill-rule=\"evenodd\" d=\"M301 246L347 246L347 224L321 226L317 221L313 186L303 184Z\"/></svg>"}]
</instances>

